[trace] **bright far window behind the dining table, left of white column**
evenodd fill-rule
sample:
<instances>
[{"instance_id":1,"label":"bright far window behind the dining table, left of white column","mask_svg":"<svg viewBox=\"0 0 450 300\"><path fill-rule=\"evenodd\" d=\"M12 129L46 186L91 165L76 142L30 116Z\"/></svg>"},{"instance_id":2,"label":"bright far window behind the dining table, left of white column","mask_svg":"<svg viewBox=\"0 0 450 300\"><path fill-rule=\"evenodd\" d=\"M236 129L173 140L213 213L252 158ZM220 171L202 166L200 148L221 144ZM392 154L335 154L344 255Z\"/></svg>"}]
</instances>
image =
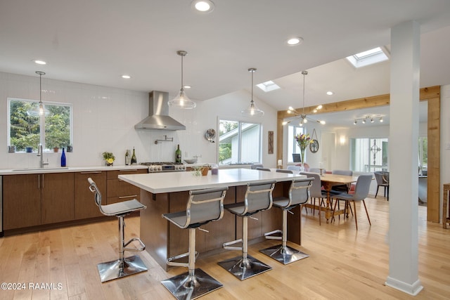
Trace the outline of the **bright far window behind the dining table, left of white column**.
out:
<instances>
[{"instance_id":1,"label":"bright far window behind the dining table, left of white column","mask_svg":"<svg viewBox=\"0 0 450 300\"><path fill-rule=\"evenodd\" d=\"M387 171L387 138L350 139L350 169L354 172Z\"/></svg>"}]
</instances>

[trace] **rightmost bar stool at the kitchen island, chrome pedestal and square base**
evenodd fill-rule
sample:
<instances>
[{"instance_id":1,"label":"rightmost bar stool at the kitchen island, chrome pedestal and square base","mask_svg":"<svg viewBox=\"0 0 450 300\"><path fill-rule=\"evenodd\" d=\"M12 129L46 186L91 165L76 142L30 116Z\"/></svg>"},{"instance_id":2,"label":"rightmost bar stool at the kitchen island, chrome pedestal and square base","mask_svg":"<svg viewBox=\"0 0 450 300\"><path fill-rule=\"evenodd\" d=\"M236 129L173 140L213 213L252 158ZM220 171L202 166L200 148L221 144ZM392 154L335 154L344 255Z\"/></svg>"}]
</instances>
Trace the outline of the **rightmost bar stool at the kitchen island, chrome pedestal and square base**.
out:
<instances>
[{"instance_id":1,"label":"rightmost bar stool at the kitchen island, chrome pedestal and square base","mask_svg":"<svg viewBox=\"0 0 450 300\"><path fill-rule=\"evenodd\" d=\"M282 243L259 250L259 252L262 252L285 265L309 257L308 254L289 247L286 245L286 242L288 240L288 212L293 214L293 212L290 211L291 209L308 202L308 190L312 185L313 180L314 178L293 179L289 187L289 197L276 197L274 199L274 207L283 210L283 229L264 233L264 236L269 240L281 240ZM273 236L276 233L281 233L282 236Z\"/></svg>"}]
</instances>

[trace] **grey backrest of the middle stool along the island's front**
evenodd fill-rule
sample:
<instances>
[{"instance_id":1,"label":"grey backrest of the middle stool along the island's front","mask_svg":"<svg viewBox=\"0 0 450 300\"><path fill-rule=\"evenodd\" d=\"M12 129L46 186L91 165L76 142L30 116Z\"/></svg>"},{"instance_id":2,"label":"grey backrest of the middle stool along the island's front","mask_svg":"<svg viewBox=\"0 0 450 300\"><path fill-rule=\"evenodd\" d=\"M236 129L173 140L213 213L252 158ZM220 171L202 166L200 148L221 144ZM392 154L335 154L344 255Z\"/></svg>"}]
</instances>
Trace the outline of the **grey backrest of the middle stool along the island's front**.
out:
<instances>
[{"instance_id":1,"label":"grey backrest of the middle stool along the island's front","mask_svg":"<svg viewBox=\"0 0 450 300\"><path fill-rule=\"evenodd\" d=\"M259 183L248 183L245 192L245 209L243 214L252 211L262 211L270 209L274 199L272 191L276 181L264 181Z\"/></svg>"}]
</instances>

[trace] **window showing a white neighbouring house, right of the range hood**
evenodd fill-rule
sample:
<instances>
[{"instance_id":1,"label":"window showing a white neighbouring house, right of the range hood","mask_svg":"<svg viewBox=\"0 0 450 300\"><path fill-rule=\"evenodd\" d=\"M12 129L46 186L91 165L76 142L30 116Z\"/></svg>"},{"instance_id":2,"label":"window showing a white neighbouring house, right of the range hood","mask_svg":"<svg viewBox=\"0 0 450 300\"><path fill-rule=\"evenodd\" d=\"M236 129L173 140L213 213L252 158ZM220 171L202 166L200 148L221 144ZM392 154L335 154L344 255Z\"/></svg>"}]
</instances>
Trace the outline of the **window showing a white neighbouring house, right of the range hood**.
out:
<instances>
[{"instance_id":1,"label":"window showing a white neighbouring house, right of the range hood","mask_svg":"<svg viewBox=\"0 0 450 300\"><path fill-rule=\"evenodd\" d=\"M219 164L261 162L261 125L219 120Z\"/></svg>"}]
</instances>

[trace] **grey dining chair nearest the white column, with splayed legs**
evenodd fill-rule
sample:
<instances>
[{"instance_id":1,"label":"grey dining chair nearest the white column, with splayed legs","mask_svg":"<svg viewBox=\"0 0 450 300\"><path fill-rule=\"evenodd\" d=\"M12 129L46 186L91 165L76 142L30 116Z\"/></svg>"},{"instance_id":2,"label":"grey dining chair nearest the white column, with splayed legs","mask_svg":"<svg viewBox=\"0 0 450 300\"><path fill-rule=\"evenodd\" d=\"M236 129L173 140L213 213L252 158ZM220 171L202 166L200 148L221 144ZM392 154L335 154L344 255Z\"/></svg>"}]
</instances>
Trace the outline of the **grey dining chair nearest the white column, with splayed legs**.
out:
<instances>
[{"instance_id":1,"label":"grey dining chair nearest the white column, with splayed legs","mask_svg":"<svg viewBox=\"0 0 450 300\"><path fill-rule=\"evenodd\" d=\"M354 194L347 194L342 193L335 195L335 205L333 207L333 214L331 215L331 219L334 220L335 216L335 210L336 210L336 204L338 204L339 201L345 201L345 208L344 211L347 211L347 218L348 218L348 207L349 202L353 202L353 211L354 211L354 222L356 224L356 230L358 230L358 219L356 217L356 201L361 201L364 204L364 209L366 210L366 215L368 219L369 225L371 224L371 218L368 216L368 211L366 207L366 202L364 201L366 197L368 196L368 191L371 188L371 181L372 181L372 175L359 175L358 180L356 181L356 185L354 188Z\"/></svg>"}]
</instances>

